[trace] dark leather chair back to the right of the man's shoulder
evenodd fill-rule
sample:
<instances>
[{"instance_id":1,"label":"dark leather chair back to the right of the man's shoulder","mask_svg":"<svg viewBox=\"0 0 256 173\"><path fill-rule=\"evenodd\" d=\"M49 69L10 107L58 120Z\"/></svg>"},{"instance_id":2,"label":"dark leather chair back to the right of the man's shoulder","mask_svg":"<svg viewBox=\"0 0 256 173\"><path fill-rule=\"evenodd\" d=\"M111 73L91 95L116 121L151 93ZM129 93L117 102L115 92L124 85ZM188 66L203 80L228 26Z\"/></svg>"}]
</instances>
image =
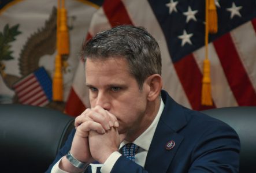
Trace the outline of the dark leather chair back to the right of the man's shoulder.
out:
<instances>
[{"instance_id":1,"label":"dark leather chair back to the right of the man's shoulder","mask_svg":"<svg viewBox=\"0 0 256 173\"><path fill-rule=\"evenodd\" d=\"M256 172L256 107L225 107L202 112L233 127L241 142L239 172Z\"/></svg>"}]
</instances>

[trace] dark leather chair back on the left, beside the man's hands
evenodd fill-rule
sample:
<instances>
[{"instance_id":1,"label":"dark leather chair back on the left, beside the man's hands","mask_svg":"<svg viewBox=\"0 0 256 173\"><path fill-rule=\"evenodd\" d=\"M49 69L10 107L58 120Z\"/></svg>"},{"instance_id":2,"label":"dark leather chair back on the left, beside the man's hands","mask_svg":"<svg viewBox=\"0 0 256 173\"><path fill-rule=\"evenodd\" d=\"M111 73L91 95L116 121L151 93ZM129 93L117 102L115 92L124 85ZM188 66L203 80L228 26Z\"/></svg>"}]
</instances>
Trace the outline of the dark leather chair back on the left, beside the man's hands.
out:
<instances>
[{"instance_id":1,"label":"dark leather chair back on the left, beside the man's hands","mask_svg":"<svg viewBox=\"0 0 256 173\"><path fill-rule=\"evenodd\" d=\"M0 172L46 171L73 121L50 108L0 104Z\"/></svg>"}]
</instances>

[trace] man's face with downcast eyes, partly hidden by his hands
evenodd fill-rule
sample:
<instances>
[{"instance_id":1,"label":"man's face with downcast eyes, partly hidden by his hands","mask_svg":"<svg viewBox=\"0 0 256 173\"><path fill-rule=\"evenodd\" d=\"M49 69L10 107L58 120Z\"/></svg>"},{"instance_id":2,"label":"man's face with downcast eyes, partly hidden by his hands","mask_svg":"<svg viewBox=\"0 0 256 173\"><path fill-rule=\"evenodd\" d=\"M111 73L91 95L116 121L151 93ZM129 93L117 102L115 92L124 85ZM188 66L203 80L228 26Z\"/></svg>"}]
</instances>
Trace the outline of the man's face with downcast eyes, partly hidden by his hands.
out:
<instances>
[{"instance_id":1,"label":"man's face with downcast eyes, partly hidden by his hands","mask_svg":"<svg viewBox=\"0 0 256 173\"><path fill-rule=\"evenodd\" d=\"M135 78L129 73L124 58L106 61L86 61L86 84L90 92L91 107L101 106L115 115L119 133L138 133L144 125L147 107L147 91L140 90Z\"/></svg>"}]
</instances>

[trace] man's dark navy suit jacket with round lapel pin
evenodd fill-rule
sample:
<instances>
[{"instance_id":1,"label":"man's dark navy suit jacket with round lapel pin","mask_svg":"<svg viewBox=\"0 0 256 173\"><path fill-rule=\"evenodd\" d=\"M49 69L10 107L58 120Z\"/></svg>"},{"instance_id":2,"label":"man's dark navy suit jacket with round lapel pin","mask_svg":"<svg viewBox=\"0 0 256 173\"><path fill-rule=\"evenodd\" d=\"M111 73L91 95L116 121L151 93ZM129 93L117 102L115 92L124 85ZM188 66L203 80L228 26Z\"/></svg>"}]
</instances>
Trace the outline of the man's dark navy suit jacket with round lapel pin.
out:
<instances>
[{"instance_id":1,"label":"man's dark navy suit jacket with round lapel pin","mask_svg":"<svg viewBox=\"0 0 256 173\"><path fill-rule=\"evenodd\" d=\"M121 156L112 172L238 172L240 142L224 122L177 104L165 91L165 103L144 168ZM71 133L51 167L71 148ZM168 150L166 144L174 141Z\"/></svg>"}]
</instances>

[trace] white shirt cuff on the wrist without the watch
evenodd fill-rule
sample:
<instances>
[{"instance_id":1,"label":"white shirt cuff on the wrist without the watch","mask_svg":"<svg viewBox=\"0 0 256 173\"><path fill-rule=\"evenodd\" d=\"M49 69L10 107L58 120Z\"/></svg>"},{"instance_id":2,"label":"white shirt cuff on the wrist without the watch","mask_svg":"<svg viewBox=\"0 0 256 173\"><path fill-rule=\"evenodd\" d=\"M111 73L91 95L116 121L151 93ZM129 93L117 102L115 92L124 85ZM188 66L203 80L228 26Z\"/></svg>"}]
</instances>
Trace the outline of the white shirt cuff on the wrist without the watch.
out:
<instances>
[{"instance_id":1,"label":"white shirt cuff on the wrist without the watch","mask_svg":"<svg viewBox=\"0 0 256 173\"><path fill-rule=\"evenodd\" d=\"M110 173L117 159L122 156L119 152L113 152L101 167L102 173ZM60 172L61 173L61 172Z\"/></svg>"}]
</instances>

